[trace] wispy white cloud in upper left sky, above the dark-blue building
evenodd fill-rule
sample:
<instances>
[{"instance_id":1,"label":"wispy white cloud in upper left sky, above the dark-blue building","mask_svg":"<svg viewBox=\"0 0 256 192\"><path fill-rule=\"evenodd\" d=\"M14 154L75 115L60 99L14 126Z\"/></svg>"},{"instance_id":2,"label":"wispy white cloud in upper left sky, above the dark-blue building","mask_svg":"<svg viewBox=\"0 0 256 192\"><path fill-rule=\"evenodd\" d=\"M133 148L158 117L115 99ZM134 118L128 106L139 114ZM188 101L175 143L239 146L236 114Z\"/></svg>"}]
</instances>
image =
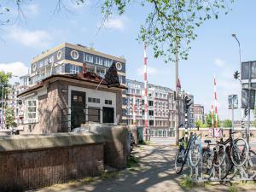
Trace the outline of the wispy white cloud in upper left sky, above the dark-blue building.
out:
<instances>
[{"instance_id":1,"label":"wispy white cloud in upper left sky, above the dark-blue building","mask_svg":"<svg viewBox=\"0 0 256 192\"><path fill-rule=\"evenodd\" d=\"M9 38L23 44L27 47L47 47L52 37L44 30L30 31L20 27L11 27L9 29Z\"/></svg>"}]
</instances>

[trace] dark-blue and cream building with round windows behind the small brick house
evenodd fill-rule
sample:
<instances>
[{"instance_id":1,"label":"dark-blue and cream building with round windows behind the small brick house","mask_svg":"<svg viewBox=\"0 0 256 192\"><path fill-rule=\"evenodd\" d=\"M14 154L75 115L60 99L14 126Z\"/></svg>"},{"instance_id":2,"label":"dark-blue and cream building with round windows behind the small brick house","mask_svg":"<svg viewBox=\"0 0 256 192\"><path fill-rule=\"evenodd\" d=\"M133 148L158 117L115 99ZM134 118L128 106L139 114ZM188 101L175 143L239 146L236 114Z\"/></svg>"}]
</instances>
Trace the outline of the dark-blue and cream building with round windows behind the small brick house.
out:
<instances>
[{"instance_id":1,"label":"dark-blue and cream building with round windows behind the small brick house","mask_svg":"<svg viewBox=\"0 0 256 192\"><path fill-rule=\"evenodd\" d=\"M108 55L81 44L60 44L55 48L42 52L31 61L30 85L36 84L52 74L76 74L82 72L86 64L88 72L93 72L104 77L113 61L118 70L119 82L125 85L125 59ZM126 90L123 90L123 113L126 114ZM126 115L123 116L126 122Z\"/></svg>"}]
</instances>

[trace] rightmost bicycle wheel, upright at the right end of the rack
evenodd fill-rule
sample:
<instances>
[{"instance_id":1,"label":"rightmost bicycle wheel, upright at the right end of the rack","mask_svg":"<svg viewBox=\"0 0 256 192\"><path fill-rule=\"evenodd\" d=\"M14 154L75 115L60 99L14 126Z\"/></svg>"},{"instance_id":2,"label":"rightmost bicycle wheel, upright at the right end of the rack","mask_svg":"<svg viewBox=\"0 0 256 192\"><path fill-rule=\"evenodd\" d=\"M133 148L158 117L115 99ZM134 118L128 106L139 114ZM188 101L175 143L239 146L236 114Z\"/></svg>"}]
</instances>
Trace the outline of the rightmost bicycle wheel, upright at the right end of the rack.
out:
<instances>
[{"instance_id":1,"label":"rightmost bicycle wheel, upright at the right end of the rack","mask_svg":"<svg viewBox=\"0 0 256 192\"><path fill-rule=\"evenodd\" d=\"M233 164L235 166L243 166L248 159L248 154L249 146L247 141L243 138L236 139L230 151Z\"/></svg>"}]
</instances>

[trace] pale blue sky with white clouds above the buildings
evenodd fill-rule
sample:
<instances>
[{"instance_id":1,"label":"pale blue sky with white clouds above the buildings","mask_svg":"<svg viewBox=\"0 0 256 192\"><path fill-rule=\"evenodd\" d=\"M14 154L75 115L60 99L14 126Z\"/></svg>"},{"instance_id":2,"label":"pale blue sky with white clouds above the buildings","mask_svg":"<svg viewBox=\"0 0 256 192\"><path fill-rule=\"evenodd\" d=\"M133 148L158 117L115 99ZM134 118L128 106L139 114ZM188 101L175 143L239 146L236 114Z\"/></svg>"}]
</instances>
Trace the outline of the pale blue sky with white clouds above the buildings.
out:
<instances>
[{"instance_id":1,"label":"pale blue sky with white clouds above the buildings","mask_svg":"<svg viewBox=\"0 0 256 192\"><path fill-rule=\"evenodd\" d=\"M0 70L21 76L27 73L32 57L63 42L93 46L109 55L124 56L127 79L143 81L143 44L136 40L140 25L151 10L132 4L124 15L113 15L102 26L100 1L87 0L75 5L66 2L58 11L52 0L32 0L22 5L23 16L18 17L12 1L2 1L10 8L10 23L0 27ZM241 85L233 78L241 61L256 60L256 1L236 0L228 15L218 20L207 20L196 30L198 37L191 44L189 59L179 62L179 79L182 90L194 95L195 103L211 110L213 76L217 81L218 115L231 119L228 96L237 94L241 101ZM0 9L3 9L0 7ZM3 20L3 18L0 18ZM102 26L102 27L101 27ZM150 47L148 53L148 83L175 88L174 64L163 58L154 59ZM12 79L18 81L17 78ZM236 109L235 119L241 119L241 109Z\"/></svg>"}]
</instances>

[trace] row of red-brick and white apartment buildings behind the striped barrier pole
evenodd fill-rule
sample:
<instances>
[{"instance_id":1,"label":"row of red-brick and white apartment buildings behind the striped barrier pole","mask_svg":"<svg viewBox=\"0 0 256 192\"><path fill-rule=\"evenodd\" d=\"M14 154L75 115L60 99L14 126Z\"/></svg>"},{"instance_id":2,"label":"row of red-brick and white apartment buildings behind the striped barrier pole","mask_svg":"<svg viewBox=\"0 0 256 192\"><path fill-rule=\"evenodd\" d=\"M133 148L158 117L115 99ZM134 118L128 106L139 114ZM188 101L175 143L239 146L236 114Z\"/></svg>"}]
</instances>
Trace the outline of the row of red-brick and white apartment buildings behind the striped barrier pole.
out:
<instances>
[{"instance_id":1,"label":"row of red-brick and white apartment buildings behind the striped barrier pole","mask_svg":"<svg viewBox=\"0 0 256 192\"><path fill-rule=\"evenodd\" d=\"M127 123L133 124L136 117L138 127L144 122L144 84L136 80L126 79L127 90ZM170 137L177 126L177 110L174 91L168 87L148 84L148 126L151 137ZM180 93L180 125L184 124L183 97L188 95ZM135 97L135 99L134 99ZM193 102L193 96L189 95ZM135 103L134 103L135 102ZM136 110L134 110L136 106ZM135 116L134 116L135 113ZM189 125L194 125L193 105L189 108Z\"/></svg>"}]
</instances>

